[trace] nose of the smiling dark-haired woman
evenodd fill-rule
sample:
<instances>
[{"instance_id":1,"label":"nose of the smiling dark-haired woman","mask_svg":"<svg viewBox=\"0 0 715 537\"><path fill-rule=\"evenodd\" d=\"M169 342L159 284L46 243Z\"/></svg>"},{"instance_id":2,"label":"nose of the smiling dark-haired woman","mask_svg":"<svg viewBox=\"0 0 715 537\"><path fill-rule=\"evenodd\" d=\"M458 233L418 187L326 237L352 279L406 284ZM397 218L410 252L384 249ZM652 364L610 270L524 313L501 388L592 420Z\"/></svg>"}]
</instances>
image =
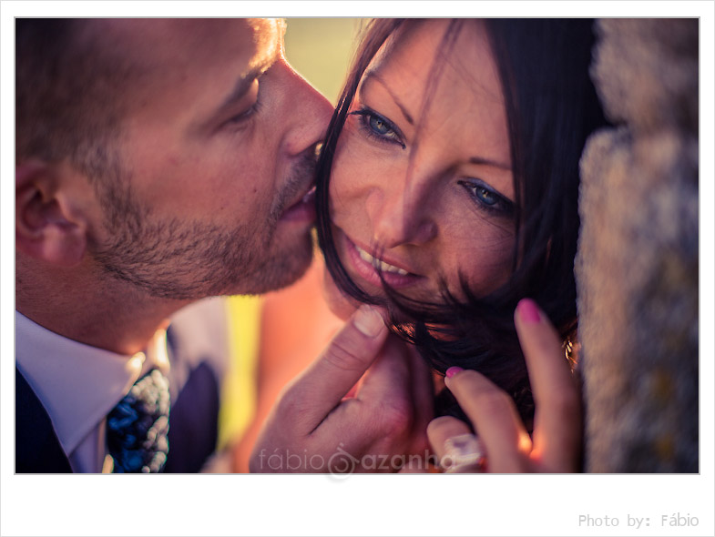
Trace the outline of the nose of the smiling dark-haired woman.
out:
<instances>
[{"instance_id":1,"label":"nose of the smiling dark-haired woman","mask_svg":"<svg viewBox=\"0 0 715 537\"><path fill-rule=\"evenodd\" d=\"M383 186L373 189L366 200L373 240L379 247L421 246L436 237L437 227L431 217L426 188Z\"/></svg>"}]
</instances>

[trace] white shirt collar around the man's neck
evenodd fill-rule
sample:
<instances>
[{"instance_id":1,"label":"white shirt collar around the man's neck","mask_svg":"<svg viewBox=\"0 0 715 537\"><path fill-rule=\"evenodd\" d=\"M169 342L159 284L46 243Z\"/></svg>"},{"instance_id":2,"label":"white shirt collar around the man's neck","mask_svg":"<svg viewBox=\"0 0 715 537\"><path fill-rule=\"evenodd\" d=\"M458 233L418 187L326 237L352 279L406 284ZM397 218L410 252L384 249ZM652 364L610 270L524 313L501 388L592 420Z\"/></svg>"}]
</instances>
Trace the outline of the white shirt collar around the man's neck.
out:
<instances>
[{"instance_id":1,"label":"white shirt collar around the man's neck","mask_svg":"<svg viewBox=\"0 0 715 537\"><path fill-rule=\"evenodd\" d=\"M69 454L152 365L169 368L166 332L133 356L90 347L15 311L15 364L35 390Z\"/></svg>"}]
</instances>

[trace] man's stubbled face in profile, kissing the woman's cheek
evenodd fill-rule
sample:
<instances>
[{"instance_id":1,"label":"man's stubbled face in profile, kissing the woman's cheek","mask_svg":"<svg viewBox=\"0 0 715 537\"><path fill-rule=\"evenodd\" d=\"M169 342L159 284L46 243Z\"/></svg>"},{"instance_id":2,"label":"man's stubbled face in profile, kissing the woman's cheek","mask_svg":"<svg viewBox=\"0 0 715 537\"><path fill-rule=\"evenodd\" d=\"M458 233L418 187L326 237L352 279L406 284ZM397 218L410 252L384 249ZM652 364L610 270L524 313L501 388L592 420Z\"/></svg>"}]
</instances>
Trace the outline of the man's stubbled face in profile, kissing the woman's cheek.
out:
<instances>
[{"instance_id":1,"label":"man's stubbled face in profile, kissing the woman's cheek","mask_svg":"<svg viewBox=\"0 0 715 537\"><path fill-rule=\"evenodd\" d=\"M253 294L310 265L314 147L332 107L283 56L273 20L107 20L138 66L117 180L90 251L152 296Z\"/></svg>"}]
</instances>

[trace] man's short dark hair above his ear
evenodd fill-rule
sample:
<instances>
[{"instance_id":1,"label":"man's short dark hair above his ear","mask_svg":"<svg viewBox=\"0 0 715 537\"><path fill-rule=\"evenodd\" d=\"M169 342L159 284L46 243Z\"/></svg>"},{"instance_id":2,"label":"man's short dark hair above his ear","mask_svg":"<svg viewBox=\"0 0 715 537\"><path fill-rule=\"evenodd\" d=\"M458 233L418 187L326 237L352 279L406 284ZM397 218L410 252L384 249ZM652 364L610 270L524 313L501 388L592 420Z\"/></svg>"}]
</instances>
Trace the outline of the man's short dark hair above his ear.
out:
<instances>
[{"instance_id":1,"label":"man's short dark hair above his ear","mask_svg":"<svg viewBox=\"0 0 715 537\"><path fill-rule=\"evenodd\" d=\"M117 176L131 66L93 19L15 20L15 159L69 161L90 180Z\"/></svg>"}]
</instances>

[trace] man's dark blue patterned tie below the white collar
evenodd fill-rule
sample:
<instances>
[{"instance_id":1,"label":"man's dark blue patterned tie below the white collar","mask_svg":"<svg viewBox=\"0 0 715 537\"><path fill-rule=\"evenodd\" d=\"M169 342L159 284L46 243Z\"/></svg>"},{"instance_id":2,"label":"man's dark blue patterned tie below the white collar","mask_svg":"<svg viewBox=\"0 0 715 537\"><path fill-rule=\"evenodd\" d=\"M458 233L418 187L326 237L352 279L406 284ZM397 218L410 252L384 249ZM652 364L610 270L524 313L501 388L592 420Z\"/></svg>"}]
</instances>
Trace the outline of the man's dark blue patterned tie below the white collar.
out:
<instances>
[{"instance_id":1,"label":"man's dark blue patterned tie below the white collar","mask_svg":"<svg viewBox=\"0 0 715 537\"><path fill-rule=\"evenodd\" d=\"M169 453L169 380L151 370L107 415L107 449L118 473L161 471Z\"/></svg>"}]
</instances>

